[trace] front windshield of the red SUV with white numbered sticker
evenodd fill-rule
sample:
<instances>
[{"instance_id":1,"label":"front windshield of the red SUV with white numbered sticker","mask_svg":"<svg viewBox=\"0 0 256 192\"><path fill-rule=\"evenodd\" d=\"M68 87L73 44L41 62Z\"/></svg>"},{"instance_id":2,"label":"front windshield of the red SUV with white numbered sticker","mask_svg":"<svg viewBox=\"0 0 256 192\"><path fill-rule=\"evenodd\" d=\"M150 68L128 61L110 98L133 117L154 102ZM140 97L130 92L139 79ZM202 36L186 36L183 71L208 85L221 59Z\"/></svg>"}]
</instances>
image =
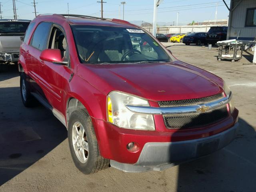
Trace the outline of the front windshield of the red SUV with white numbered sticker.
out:
<instances>
[{"instance_id":1,"label":"front windshield of the red SUV with white numbered sticker","mask_svg":"<svg viewBox=\"0 0 256 192\"><path fill-rule=\"evenodd\" d=\"M169 55L142 30L73 25L80 61L90 64L169 62Z\"/></svg>"}]
</instances>

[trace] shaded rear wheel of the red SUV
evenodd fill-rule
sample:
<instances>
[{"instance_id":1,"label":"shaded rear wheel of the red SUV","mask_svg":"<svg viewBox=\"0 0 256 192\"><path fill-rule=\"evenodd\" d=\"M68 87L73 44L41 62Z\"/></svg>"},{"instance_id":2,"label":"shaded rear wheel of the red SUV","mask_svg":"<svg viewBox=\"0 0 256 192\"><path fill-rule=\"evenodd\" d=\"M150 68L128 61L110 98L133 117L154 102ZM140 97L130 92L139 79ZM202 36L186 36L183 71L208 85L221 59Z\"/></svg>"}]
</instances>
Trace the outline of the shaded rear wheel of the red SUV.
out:
<instances>
[{"instance_id":1,"label":"shaded rear wheel of the red SUV","mask_svg":"<svg viewBox=\"0 0 256 192\"><path fill-rule=\"evenodd\" d=\"M33 107L36 105L36 100L30 93L30 85L24 73L20 74L20 95L25 107Z\"/></svg>"}]
</instances>

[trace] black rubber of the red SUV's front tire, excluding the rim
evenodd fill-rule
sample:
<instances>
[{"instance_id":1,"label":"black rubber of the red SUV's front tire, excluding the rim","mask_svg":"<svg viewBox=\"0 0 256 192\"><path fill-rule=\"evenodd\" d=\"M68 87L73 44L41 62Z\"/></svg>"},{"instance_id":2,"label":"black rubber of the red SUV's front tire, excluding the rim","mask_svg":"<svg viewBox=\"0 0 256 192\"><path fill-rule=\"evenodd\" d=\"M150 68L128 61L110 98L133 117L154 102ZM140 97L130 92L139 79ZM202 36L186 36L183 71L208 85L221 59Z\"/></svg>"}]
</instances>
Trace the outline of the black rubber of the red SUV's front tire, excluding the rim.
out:
<instances>
[{"instance_id":1,"label":"black rubber of the red SUV's front tire, excluding the rim","mask_svg":"<svg viewBox=\"0 0 256 192\"><path fill-rule=\"evenodd\" d=\"M85 132L83 137L88 142L87 160L84 163L78 159L72 141L72 129L76 122L83 126ZM110 160L100 155L92 121L84 109L76 110L70 115L68 122L68 144L74 164L82 173L92 174L109 167Z\"/></svg>"}]
</instances>

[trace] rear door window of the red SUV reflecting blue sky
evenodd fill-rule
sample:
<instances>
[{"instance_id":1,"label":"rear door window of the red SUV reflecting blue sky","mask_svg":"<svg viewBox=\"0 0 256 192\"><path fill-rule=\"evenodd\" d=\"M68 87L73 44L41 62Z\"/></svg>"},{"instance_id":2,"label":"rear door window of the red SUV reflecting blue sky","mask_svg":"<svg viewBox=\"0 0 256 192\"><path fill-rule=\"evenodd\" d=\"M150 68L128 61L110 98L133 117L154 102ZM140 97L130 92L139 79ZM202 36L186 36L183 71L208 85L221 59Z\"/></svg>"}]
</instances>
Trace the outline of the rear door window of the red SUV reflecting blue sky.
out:
<instances>
[{"instance_id":1,"label":"rear door window of the red SUV reflecting blue sky","mask_svg":"<svg viewBox=\"0 0 256 192\"><path fill-rule=\"evenodd\" d=\"M40 51L46 49L51 25L52 23L50 22L43 22L37 26L36 30L34 31L33 38L30 42L34 48L37 48Z\"/></svg>"}]
</instances>

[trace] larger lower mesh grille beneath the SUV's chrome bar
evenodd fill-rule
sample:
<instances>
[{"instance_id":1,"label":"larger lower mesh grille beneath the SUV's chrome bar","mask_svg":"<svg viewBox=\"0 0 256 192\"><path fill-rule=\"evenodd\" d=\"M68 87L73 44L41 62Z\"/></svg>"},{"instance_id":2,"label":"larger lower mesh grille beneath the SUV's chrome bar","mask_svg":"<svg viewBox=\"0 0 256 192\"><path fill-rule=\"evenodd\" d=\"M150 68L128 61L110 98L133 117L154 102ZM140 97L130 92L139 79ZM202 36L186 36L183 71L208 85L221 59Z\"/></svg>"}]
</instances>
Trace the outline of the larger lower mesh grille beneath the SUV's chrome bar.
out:
<instances>
[{"instance_id":1,"label":"larger lower mesh grille beneath the SUV's chrome bar","mask_svg":"<svg viewBox=\"0 0 256 192\"><path fill-rule=\"evenodd\" d=\"M226 105L216 110L200 114L163 115L168 129L197 128L220 121L228 116Z\"/></svg>"}]
</instances>

